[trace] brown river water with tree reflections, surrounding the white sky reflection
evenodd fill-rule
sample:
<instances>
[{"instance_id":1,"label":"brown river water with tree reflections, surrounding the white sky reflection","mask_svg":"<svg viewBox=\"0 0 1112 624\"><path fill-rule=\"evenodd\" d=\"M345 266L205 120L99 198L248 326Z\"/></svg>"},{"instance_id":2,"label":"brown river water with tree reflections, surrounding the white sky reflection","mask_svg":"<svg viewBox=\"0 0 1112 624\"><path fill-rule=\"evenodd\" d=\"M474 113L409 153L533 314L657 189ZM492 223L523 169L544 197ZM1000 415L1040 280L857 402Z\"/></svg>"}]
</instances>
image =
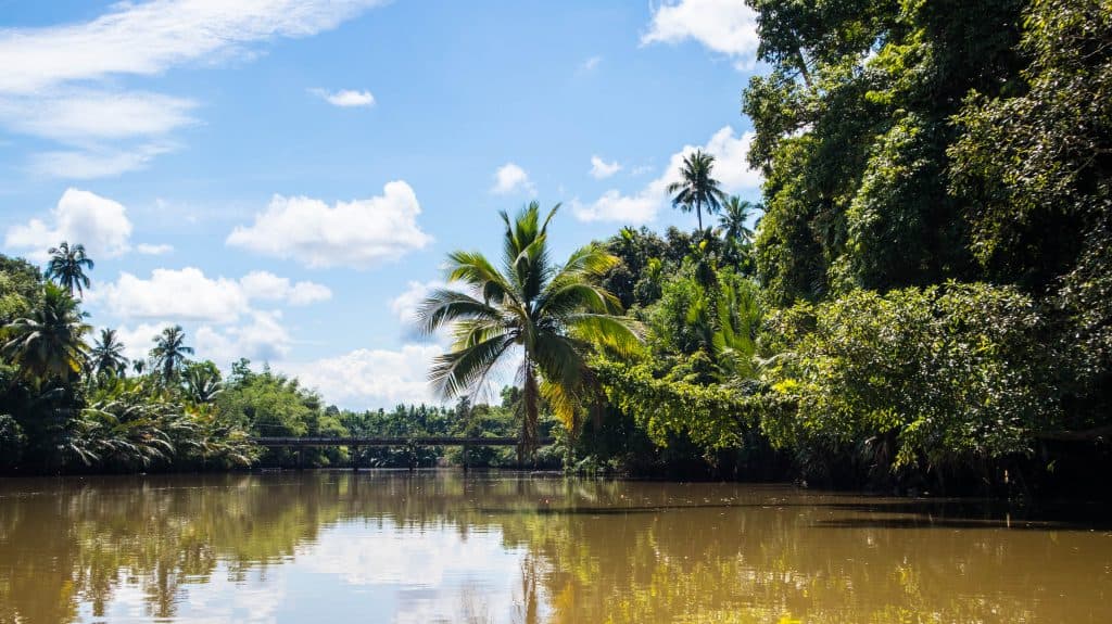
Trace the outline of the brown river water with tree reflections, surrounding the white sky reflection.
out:
<instances>
[{"instance_id":1,"label":"brown river water with tree reflections, surrounding the white sky reflection","mask_svg":"<svg viewBox=\"0 0 1112 624\"><path fill-rule=\"evenodd\" d=\"M339 522L498 531L526 553L514 618L527 624L1084 622L1101 605L1062 596L1108 592L1112 563L1099 534L981 526L966 511L950 530L945 511L734 485L309 473L16 486L38 493L0 499L0 622L72 621L80 603L102 614L125 583L171 617L183 587L280 565ZM468 621L490 620L480 595L460 601Z\"/></svg>"}]
</instances>

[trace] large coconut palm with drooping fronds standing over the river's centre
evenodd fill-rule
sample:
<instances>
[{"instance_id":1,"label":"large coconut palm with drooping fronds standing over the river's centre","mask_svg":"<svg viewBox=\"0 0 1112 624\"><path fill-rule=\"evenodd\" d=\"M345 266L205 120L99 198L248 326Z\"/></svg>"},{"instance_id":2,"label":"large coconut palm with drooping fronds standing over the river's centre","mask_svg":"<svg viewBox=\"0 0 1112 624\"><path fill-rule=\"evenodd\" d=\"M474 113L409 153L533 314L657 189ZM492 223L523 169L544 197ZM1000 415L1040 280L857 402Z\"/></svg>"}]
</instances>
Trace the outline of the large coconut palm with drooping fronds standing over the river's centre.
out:
<instances>
[{"instance_id":1,"label":"large coconut palm with drooping fronds standing over the river's centre","mask_svg":"<svg viewBox=\"0 0 1112 624\"><path fill-rule=\"evenodd\" d=\"M603 274L619 261L597 243L579 248L563 265L548 254L548 223L530 203L505 223L499 271L478 252L448 255L447 281L468 292L434 291L421 304L420 330L450 326L451 351L437 358L429 380L445 397L481 385L499 363L515 360L522 391L522 446L535 446L540 399L569 431L584 406L593 378L586 362L592 349L627 354L641 340L622 305L602 285ZM517 360L519 358L519 360Z\"/></svg>"}]
</instances>

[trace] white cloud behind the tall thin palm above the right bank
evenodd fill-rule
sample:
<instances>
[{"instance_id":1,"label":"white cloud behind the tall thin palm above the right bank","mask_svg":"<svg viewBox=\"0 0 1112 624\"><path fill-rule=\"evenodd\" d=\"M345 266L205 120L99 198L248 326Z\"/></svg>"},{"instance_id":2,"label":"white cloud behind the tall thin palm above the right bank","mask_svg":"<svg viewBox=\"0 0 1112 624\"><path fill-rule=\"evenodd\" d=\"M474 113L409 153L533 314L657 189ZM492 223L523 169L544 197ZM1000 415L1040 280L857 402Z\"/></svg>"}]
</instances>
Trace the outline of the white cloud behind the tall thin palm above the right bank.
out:
<instances>
[{"instance_id":1,"label":"white cloud behind the tall thin palm above the right bank","mask_svg":"<svg viewBox=\"0 0 1112 624\"><path fill-rule=\"evenodd\" d=\"M580 221L618 221L634 224L653 221L661 208L669 202L667 187L678 180L684 157L697 149L715 157L714 177L722 182L725 192L738 193L759 188L759 172L751 169L745 160L752 141L752 132L735 137L734 129L726 125L715 132L705 145L685 145L672 154L664 174L651 181L641 191L626 195L612 189L589 204L573 200L572 212Z\"/></svg>"}]
</instances>

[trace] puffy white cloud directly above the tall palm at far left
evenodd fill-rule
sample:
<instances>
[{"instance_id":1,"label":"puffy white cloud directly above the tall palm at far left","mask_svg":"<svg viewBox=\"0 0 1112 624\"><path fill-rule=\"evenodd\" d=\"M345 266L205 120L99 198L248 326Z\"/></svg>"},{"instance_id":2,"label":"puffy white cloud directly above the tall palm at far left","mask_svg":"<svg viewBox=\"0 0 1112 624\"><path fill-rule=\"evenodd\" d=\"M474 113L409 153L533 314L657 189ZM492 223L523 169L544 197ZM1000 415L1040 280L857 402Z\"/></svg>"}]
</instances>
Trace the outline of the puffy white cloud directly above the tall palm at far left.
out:
<instances>
[{"instance_id":1,"label":"puffy white cloud directly above the tall palm at far left","mask_svg":"<svg viewBox=\"0 0 1112 624\"><path fill-rule=\"evenodd\" d=\"M49 223L32 219L8 228L4 246L26 250L44 260L47 250L62 241L83 244L93 260L121 255L129 249L131 221L123 204L89 191L67 189L50 211Z\"/></svg>"}]
</instances>

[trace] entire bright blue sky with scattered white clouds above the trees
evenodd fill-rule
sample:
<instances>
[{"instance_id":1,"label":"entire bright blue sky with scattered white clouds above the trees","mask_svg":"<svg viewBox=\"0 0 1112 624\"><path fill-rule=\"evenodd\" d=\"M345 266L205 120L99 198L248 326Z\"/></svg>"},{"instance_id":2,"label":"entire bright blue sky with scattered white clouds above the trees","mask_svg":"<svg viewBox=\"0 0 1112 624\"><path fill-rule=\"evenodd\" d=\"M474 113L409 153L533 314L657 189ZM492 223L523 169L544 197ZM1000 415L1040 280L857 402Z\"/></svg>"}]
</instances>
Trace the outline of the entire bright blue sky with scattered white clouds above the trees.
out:
<instances>
[{"instance_id":1,"label":"entire bright blue sky with scattered white clouds above the trees","mask_svg":"<svg viewBox=\"0 0 1112 624\"><path fill-rule=\"evenodd\" d=\"M342 406L429 400L407 315L498 210L563 202L560 255L689 229L696 147L756 198L755 49L737 0L0 0L0 251L86 244L132 355L180 323Z\"/></svg>"}]
</instances>

